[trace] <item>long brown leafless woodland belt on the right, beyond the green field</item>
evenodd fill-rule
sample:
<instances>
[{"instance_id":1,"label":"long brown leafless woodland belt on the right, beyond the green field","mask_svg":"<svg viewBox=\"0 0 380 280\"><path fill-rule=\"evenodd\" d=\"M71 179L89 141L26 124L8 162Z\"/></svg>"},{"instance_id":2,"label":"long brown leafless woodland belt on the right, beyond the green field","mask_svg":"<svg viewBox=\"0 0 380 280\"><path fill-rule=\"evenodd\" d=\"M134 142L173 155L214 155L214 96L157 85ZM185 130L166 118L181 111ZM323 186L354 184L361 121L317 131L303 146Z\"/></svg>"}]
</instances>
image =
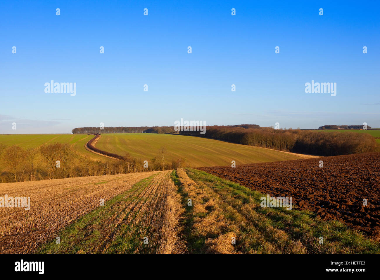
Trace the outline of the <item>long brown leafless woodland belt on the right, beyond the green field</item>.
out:
<instances>
[{"instance_id":1,"label":"long brown leafless woodland belt on the right, beyond the green field","mask_svg":"<svg viewBox=\"0 0 380 280\"><path fill-rule=\"evenodd\" d=\"M218 139L236 144L258 146L300 154L331 156L376 152L379 146L366 133L324 133L322 131L244 128L242 126L207 126L206 133L179 131L181 135Z\"/></svg>"}]
</instances>

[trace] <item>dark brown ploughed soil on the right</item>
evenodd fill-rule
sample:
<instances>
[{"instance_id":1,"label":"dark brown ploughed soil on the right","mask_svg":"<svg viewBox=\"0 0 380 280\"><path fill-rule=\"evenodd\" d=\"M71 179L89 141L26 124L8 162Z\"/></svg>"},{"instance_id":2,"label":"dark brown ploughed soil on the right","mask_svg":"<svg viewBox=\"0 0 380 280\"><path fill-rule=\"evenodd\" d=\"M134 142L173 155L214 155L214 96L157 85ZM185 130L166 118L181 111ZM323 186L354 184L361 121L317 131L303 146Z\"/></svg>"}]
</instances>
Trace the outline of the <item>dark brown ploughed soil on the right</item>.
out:
<instances>
[{"instance_id":1,"label":"dark brown ploughed soil on the right","mask_svg":"<svg viewBox=\"0 0 380 280\"><path fill-rule=\"evenodd\" d=\"M379 240L379 168L380 153L366 153L198 169L264 194L293 197L298 209L312 211L325 221L340 221Z\"/></svg>"}]
</instances>

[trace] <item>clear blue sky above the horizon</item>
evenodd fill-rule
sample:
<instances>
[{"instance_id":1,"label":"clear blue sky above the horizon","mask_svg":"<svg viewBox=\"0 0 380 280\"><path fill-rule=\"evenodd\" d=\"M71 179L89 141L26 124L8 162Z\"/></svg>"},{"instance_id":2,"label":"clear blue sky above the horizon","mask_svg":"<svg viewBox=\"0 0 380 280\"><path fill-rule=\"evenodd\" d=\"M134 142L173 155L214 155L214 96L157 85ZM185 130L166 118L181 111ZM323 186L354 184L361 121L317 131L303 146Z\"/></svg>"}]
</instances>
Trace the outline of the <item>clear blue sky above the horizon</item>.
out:
<instances>
[{"instance_id":1,"label":"clear blue sky above the horizon","mask_svg":"<svg viewBox=\"0 0 380 280\"><path fill-rule=\"evenodd\" d=\"M180 118L380 127L375 1L3 1L0 18L0 133ZM76 96L45 93L51 80ZM311 80L336 82L336 96L305 93Z\"/></svg>"}]
</instances>

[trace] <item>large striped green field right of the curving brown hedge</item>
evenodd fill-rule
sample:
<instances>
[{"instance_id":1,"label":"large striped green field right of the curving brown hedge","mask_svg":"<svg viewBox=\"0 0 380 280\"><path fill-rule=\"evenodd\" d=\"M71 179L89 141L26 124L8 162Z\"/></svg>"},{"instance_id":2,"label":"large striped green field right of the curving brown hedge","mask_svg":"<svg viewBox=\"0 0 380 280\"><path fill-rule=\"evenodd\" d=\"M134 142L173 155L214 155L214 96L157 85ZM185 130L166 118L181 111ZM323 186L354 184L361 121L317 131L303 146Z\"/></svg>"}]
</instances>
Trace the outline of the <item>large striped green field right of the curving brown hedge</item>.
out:
<instances>
[{"instance_id":1,"label":"large striped green field right of the curving brown hedge","mask_svg":"<svg viewBox=\"0 0 380 280\"><path fill-rule=\"evenodd\" d=\"M101 134L96 147L118 155L126 153L142 160L151 160L158 155L158 149L166 146L167 162L185 157L191 167L274 162L299 159L298 156L283 152L233 144L214 139L192 136L155 133Z\"/></svg>"}]
</instances>

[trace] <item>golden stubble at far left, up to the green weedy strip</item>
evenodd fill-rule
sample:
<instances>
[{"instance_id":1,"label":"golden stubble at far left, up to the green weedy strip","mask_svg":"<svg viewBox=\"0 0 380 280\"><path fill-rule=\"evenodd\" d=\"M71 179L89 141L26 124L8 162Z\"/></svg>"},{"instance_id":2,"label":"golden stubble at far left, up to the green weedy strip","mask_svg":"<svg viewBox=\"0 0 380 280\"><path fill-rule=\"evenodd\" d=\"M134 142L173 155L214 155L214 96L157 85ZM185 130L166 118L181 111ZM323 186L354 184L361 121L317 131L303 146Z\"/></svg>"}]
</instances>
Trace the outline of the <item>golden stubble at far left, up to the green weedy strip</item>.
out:
<instances>
[{"instance_id":1,"label":"golden stubble at far left, up to the green weedy strip","mask_svg":"<svg viewBox=\"0 0 380 280\"><path fill-rule=\"evenodd\" d=\"M41 243L106 201L157 172L0 184L0 197L30 197L24 207L0 208L0 253L32 253Z\"/></svg>"}]
</instances>

